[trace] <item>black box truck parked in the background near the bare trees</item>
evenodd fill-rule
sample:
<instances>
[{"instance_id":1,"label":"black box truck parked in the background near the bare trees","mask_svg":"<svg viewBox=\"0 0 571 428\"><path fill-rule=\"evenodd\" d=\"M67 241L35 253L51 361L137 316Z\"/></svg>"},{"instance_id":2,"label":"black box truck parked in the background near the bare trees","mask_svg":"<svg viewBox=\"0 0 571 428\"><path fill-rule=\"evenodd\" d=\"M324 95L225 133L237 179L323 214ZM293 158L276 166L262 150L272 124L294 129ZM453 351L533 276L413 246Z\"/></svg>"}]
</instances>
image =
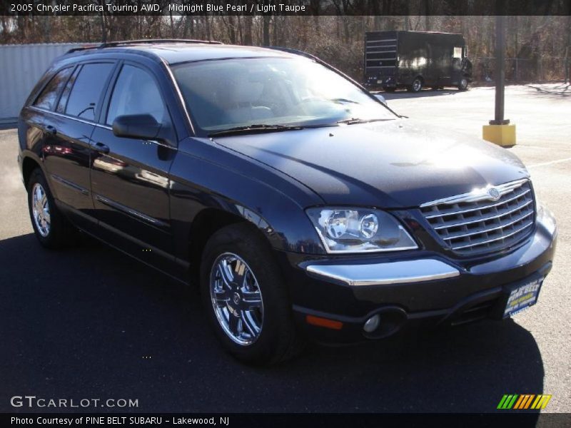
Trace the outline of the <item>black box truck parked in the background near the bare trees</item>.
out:
<instances>
[{"instance_id":1,"label":"black box truck parked in the background near the bare trees","mask_svg":"<svg viewBox=\"0 0 571 428\"><path fill-rule=\"evenodd\" d=\"M365 85L385 91L418 92L472 81L462 34L426 31L373 31L365 34Z\"/></svg>"}]
</instances>

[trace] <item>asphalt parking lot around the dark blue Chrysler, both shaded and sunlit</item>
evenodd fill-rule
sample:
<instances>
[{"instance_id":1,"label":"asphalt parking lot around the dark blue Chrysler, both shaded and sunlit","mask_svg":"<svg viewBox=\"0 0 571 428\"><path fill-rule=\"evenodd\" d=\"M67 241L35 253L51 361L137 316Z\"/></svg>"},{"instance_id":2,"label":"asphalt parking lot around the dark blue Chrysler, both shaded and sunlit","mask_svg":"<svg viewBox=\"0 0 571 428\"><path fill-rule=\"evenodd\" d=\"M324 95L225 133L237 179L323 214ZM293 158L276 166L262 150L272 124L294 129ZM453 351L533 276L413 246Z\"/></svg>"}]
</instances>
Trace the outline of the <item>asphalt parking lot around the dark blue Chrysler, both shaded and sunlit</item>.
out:
<instances>
[{"instance_id":1,"label":"asphalt parking lot around the dark blue Chrysler, both shaded and sunlit","mask_svg":"<svg viewBox=\"0 0 571 428\"><path fill-rule=\"evenodd\" d=\"M493 88L383 95L446 133L481 136L493 118ZM505 110L517 126L509 150L559 225L537 306L503 323L310 346L263 369L221 351L193 289L91 241L42 250L16 130L0 131L0 411L28 394L138 399L138 412L494 412L503 394L544 393L545 412L571 412L571 88L510 86Z\"/></svg>"}]
</instances>

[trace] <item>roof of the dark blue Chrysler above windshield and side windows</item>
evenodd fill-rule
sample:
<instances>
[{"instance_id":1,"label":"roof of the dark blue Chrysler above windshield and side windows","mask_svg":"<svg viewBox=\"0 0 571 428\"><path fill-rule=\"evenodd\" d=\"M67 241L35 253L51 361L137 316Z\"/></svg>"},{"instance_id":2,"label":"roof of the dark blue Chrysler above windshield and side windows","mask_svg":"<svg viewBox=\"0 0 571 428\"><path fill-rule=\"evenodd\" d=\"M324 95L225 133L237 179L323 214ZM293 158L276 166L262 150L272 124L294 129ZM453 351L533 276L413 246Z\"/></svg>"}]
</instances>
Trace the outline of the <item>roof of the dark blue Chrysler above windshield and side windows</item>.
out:
<instances>
[{"instance_id":1,"label":"roof of the dark blue Chrysler above windshield and side windows","mask_svg":"<svg viewBox=\"0 0 571 428\"><path fill-rule=\"evenodd\" d=\"M204 61L222 58L253 58L253 57L296 57L298 55L276 49L257 46L238 46L221 44L213 41L187 40L143 40L122 41L108 44L90 45L71 49L70 55L89 55L111 52L141 53L156 56L168 64L188 61Z\"/></svg>"}]
</instances>

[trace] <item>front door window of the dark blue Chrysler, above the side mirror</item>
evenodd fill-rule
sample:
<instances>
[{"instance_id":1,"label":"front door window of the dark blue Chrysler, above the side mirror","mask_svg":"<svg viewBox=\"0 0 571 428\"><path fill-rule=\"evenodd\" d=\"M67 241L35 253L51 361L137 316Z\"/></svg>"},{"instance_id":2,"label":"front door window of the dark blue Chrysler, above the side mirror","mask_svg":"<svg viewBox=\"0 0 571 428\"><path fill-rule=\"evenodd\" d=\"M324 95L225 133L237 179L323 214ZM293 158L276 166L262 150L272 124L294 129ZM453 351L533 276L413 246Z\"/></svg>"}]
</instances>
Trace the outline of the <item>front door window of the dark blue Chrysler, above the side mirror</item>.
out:
<instances>
[{"instance_id":1,"label":"front door window of the dark blue Chrysler, above the side mirror","mask_svg":"<svg viewBox=\"0 0 571 428\"><path fill-rule=\"evenodd\" d=\"M153 76L141 68L126 64L121 68L113 88L106 124L111 126L117 116L133 114L150 114L158 123L164 123L168 117Z\"/></svg>"}]
</instances>

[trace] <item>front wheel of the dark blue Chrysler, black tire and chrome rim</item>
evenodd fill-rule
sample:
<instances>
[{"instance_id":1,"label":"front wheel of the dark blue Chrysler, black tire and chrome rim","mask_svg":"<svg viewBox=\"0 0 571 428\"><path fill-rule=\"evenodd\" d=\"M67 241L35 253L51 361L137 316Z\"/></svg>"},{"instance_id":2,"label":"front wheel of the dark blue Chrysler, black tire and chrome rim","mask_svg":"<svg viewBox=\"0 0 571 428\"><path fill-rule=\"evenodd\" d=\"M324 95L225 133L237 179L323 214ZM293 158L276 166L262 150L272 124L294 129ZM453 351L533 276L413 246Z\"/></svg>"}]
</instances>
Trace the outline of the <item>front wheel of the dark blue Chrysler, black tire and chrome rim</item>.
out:
<instances>
[{"instance_id":1,"label":"front wheel of the dark blue Chrysler, black tire and chrome rim","mask_svg":"<svg viewBox=\"0 0 571 428\"><path fill-rule=\"evenodd\" d=\"M300 350L287 288L268 243L251 225L227 226L208 240L201 297L216 336L238 360L268 365Z\"/></svg>"}]
</instances>

